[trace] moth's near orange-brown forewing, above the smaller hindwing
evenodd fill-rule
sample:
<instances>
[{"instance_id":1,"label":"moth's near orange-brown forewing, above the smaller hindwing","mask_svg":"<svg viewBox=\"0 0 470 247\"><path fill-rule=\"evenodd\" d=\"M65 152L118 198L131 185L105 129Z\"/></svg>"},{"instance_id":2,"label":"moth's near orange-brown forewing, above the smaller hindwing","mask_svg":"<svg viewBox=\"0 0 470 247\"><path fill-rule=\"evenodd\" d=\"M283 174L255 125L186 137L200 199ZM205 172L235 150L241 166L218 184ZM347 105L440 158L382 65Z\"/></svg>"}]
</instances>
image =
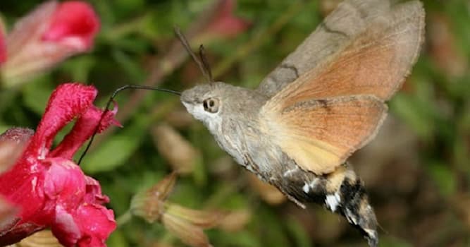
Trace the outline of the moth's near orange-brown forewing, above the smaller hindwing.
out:
<instances>
[{"instance_id":1,"label":"moth's near orange-brown forewing, above the smaller hindwing","mask_svg":"<svg viewBox=\"0 0 470 247\"><path fill-rule=\"evenodd\" d=\"M307 71L271 100L288 107L296 102L347 95L376 95L388 100L416 61L423 36L419 2L393 11L396 20L378 18L345 49ZM417 9L416 9L417 11Z\"/></svg>"}]
</instances>

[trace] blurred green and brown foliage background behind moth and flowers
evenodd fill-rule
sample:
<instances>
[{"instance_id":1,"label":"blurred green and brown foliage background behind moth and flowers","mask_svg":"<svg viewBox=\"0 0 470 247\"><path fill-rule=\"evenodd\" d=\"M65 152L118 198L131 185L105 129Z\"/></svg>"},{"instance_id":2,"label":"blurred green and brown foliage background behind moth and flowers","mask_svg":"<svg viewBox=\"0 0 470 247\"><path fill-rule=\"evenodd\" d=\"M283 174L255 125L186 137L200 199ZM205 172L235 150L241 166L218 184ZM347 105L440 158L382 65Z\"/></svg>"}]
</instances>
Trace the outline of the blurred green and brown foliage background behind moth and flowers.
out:
<instances>
[{"instance_id":1,"label":"blurred green and brown foliage background behind moth and flowers","mask_svg":"<svg viewBox=\"0 0 470 247\"><path fill-rule=\"evenodd\" d=\"M39 2L2 1L1 14L11 27ZM205 43L216 79L256 87L314 30L325 14L323 2L237 1L235 15L249 20L252 26L237 37ZM389 104L392 117L398 119L394 123L407 130L409 141L405 146L409 155L400 159L403 154L395 153L402 150L400 147L392 147L386 154L374 153L391 157L366 160L381 162L377 169L356 161L365 160L361 156L376 157L368 156L367 150L353 160L359 175L364 174L383 227L381 246L469 246L470 3L424 2L426 44L404 89ZM113 90L144 83L154 70L166 72L158 80L161 88L183 90L204 81L191 61L176 66L174 71L156 64L168 59L175 40L173 26L189 32L191 24L206 14L211 1L90 3L101 18L101 31L92 52L68 59L21 88L1 90L0 132L11 126L35 128L51 91L59 83L96 85L100 92L97 105L104 106ZM437 31L431 30L436 27ZM441 30L443 27L448 28L447 33ZM442 41L444 45L439 43ZM452 63L462 69L452 72ZM128 99L133 94L123 92L117 97L120 109L130 104ZM115 128L113 133L98 138L82 163L85 172L100 181L117 217L128 210L132 195L171 172L151 135L152 126L167 121L202 154L202 162L197 162L193 173L178 180L171 200L186 207L245 209L252 213L249 222L237 231L206 231L214 246L366 246L344 219L317 205L302 210L292 203L270 205L261 200L256 188L247 183L246 172L227 162L230 159L225 159L227 155L202 124L190 121L178 126L178 121L169 120L171 114L184 112L174 95L151 92L138 100L140 104L131 104L128 109L122 121L124 128ZM388 141L385 138L371 145L388 145ZM370 170L373 174L368 176ZM140 219L121 225L109 239L109 246L118 247L159 243L182 245L161 224L149 225Z\"/></svg>"}]
</instances>

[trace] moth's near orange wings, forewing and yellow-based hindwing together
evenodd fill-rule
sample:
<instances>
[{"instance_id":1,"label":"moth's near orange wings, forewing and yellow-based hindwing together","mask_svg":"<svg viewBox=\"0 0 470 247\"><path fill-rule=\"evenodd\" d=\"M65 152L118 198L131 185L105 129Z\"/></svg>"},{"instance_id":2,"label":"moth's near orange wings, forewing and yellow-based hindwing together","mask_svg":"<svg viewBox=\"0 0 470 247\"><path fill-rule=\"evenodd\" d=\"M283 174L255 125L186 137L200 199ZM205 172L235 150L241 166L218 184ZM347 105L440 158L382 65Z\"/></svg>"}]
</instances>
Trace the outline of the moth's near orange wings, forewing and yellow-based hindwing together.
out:
<instances>
[{"instance_id":1,"label":"moth's near orange wings, forewing and yellow-based hindwing together","mask_svg":"<svg viewBox=\"0 0 470 247\"><path fill-rule=\"evenodd\" d=\"M373 138L383 101L400 88L423 40L419 1L395 6L345 49L299 75L266 102L260 122L303 169L326 174ZM352 23L354 24L354 23Z\"/></svg>"}]
</instances>

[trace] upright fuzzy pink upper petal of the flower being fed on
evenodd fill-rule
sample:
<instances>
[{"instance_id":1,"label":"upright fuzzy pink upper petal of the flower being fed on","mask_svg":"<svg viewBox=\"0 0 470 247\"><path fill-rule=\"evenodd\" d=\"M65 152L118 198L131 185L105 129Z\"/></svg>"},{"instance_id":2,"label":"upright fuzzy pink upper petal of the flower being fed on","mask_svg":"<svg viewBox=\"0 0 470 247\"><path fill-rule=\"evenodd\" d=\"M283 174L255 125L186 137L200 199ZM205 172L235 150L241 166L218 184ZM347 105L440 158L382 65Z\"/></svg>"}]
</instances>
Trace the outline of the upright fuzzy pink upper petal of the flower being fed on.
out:
<instances>
[{"instance_id":1,"label":"upright fuzzy pink upper petal of the flower being fed on","mask_svg":"<svg viewBox=\"0 0 470 247\"><path fill-rule=\"evenodd\" d=\"M54 136L75 116L87 111L97 90L93 86L78 83L59 85L52 92L46 111L37 126L27 152L38 159L44 159L49 152Z\"/></svg>"}]
</instances>

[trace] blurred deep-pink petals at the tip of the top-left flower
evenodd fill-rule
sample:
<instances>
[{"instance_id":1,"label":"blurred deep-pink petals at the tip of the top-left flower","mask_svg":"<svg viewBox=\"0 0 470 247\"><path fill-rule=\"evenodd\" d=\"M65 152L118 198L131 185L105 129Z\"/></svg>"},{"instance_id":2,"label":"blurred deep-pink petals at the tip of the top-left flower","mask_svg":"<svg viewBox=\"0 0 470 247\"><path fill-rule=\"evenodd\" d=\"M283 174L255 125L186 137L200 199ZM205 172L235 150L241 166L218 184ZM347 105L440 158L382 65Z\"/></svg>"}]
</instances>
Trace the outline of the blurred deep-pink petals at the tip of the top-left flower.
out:
<instances>
[{"instance_id":1,"label":"blurred deep-pink petals at the tip of the top-left flower","mask_svg":"<svg viewBox=\"0 0 470 247\"><path fill-rule=\"evenodd\" d=\"M99 31L99 18L92 6L83 1L66 1L54 12L42 40L60 42L77 51L92 47Z\"/></svg>"}]
</instances>

